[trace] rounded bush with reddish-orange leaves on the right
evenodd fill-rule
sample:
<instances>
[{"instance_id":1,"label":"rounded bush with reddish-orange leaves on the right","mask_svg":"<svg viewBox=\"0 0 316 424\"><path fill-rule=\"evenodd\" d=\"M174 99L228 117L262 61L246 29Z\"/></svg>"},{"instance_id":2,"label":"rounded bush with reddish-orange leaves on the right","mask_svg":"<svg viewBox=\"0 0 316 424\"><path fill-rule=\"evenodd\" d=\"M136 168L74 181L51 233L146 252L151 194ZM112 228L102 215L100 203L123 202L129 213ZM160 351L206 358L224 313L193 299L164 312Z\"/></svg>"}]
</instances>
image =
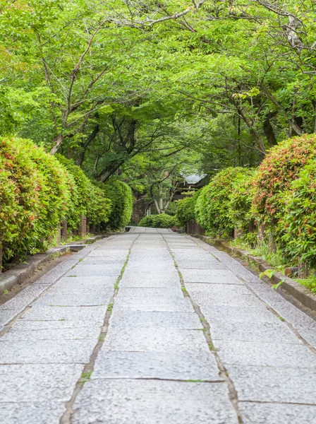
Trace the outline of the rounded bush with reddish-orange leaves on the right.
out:
<instances>
[{"instance_id":1,"label":"rounded bush with reddish-orange leaves on the right","mask_svg":"<svg viewBox=\"0 0 316 424\"><path fill-rule=\"evenodd\" d=\"M294 137L269 151L255 178L253 211L272 230L284 211L284 192L300 170L316 156L316 135Z\"/></svg>"}]
</instances>

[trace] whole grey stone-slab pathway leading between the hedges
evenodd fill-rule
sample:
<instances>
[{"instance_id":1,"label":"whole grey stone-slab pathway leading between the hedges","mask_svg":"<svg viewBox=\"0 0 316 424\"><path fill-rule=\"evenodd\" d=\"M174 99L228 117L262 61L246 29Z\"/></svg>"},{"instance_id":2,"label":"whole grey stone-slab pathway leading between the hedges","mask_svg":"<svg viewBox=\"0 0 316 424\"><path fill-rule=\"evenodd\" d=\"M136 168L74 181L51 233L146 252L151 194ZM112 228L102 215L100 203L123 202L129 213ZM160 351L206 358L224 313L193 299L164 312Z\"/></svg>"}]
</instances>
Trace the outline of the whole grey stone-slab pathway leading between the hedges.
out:
<instances>
[{"instance_id":1,"label":"whole grey stone-slab pathway leading between the hedges","mask_svg":"<svg viewBox=\"0 0 316 424\"><path fill-rule=\"evenodd\" d=\"M100 240L1 324L0 423L316 423L316 322L187 235Z\"/></svg>"}]
</instances>

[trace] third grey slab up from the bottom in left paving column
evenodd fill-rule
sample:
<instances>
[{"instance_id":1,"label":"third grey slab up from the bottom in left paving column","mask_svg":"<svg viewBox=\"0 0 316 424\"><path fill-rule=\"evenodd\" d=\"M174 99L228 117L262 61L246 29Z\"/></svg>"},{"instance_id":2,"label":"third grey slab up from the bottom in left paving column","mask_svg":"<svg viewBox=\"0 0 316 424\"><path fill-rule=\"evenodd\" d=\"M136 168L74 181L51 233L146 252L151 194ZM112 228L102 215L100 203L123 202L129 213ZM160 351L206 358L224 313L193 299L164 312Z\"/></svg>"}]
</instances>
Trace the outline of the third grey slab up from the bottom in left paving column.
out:
<instances>
[{"instance_id":1,"label":"third grey slab up from the bottom in left paving column","mask_svg":"<svg viewBox=\"0 0 316 424\"><path fill-rule=\"evenodd\" d=\"M0 364L85 364L95 344L94 339L0 340Z\"/></svg>"}]
</instances>

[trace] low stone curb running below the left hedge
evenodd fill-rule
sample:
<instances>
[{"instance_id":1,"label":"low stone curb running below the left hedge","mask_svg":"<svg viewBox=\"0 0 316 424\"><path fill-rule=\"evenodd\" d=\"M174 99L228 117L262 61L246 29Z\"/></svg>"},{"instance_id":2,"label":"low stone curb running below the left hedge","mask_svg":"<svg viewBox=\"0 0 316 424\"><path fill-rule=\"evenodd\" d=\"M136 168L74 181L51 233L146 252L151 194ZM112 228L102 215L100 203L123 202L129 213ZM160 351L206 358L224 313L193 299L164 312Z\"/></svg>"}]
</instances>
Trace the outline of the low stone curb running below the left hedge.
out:
<instances>
[{"instance_id":1,"label":"low stone curb running below the left hedge","mask_svg":"<svg viewBox=\"0 0 316 424\"><path fill-rule=\"evenodd\" d=\"M25 278L32 276L33 273L39 269L39 266L47 264L48 261L53 259L55 254L63 254L69 249L75 249L79 246L81 249L83 249L83 247L87 246L88 244L91 244L104 237L109 237L113 234L117 233L109 232L107 234L95 235L85 240L69 243L68 245L52 247L45 253L39 253L28 257L25 261L27 263L18 264L10 269L10 271L6 271L5 273L0 274L0 295L3 295L5 290L10 290L13 288L14 285L23 283Z\"/></svg>"}]
</instances>

